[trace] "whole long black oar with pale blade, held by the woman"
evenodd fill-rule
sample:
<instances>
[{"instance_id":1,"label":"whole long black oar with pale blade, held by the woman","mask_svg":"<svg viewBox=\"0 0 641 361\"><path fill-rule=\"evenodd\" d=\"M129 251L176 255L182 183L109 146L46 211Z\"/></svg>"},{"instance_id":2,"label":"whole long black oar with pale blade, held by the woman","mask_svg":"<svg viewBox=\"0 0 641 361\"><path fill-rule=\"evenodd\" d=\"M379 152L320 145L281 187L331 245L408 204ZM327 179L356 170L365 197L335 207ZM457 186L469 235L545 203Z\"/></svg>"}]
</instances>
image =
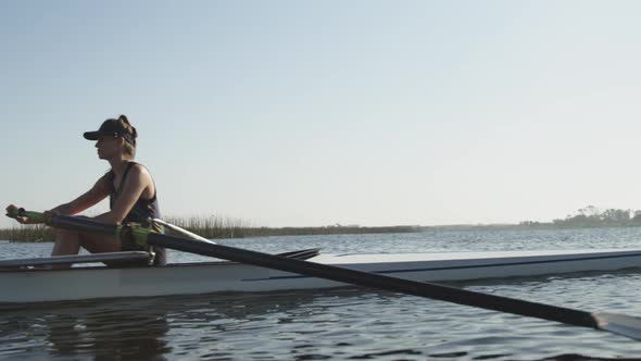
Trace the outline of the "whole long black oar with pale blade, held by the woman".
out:
<instances>
[{"instance_id":1,"label":"whole long black oar with pale blade, held by the woman","mask_svg":"<svg viewBox=\"0 0 641 361\"><path fill-rule=\"evenodd\" d=\"M210 256L229 261L236 261L257 266L292 272L307 276L327 278L331 281L359 286L380 288L407 295L448 301L458 304L473 306L481 309L519 314L524 316L556 321L581 327L607 331L614 334L641 340L641 319L624 314L590 313L563 307L524 301L502 296L475 292L438 284L422 283L410 279L385 276L343 267L330 266L288 259L274 254L266 254L251 250L238 249L223 245L212 245L168 235L152 233L137 226L115 226L87 219L56 215L46 219L42 213L13 211L9 216L27 216L41 220L49 225L61 228L80 229L100 234L121 236L130 234L136 242L155 245L179 251L201 256Z\"/></svg>"}]
</instances>

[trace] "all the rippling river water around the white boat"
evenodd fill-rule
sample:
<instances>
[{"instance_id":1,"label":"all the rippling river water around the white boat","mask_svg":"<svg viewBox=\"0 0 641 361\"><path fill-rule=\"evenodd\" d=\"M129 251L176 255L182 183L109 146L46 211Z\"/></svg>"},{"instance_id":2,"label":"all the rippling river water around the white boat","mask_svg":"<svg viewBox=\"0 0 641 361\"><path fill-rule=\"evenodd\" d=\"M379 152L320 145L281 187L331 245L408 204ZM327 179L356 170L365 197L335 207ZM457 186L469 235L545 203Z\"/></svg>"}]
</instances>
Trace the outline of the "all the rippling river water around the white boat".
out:
<instances>
[{"instance_id":1,"label":"all the rippling river water around the white boat","mask_svg":"<svg viewBox=\"0 0 641 361\"><path fill-rule=\"evenodd\" d=\"M429 252L640 247L640 228L427 232L226 239L280 252ZM0 242L0 258L51 244ZM203 260L169 252L171 262ZM641 271L450 284L641 316ZM0 290L9 291L9 290ZM641 360L605 332L355 287L58 302L0 311L4 360Z\"/></svg>"}]
</instances>

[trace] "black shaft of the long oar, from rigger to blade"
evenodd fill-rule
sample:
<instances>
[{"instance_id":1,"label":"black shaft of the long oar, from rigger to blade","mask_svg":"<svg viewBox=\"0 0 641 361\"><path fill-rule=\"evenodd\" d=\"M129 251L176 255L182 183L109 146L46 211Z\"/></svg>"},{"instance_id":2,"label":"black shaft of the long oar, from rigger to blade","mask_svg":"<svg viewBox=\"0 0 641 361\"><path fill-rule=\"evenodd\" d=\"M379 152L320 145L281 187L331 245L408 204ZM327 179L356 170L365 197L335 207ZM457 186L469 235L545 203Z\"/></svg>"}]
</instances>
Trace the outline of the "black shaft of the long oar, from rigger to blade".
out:
<instances>
[{"instance_id":1,"label":"black shaft of the long oar, from rigger to blade","mask_svg":"<svg viewBox=\"0 0 641 361\"><path fill-rule=\"evenodd\" d=\"M320 263L292 260L228 246L186 241L184 238L161 234L150 234L148 239L152 245L198 253L201 256L216 257L229 261L276 269L285 272L427 297L494 311L539 318L576 326L599 328L599 325L591 313L579 310L475 292L443 285L390 277Z\"/></svg>"}]
</instances>

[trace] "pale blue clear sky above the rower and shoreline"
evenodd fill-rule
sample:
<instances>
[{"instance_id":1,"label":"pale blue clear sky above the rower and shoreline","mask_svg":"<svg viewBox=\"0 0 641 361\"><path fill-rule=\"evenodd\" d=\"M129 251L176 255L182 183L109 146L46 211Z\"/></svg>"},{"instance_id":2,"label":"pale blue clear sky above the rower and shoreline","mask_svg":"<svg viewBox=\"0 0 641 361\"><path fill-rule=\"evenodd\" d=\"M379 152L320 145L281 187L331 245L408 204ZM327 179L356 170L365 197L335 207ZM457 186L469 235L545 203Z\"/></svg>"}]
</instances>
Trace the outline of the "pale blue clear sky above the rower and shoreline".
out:
<instances>
[{"instance_id":1,"label":"pale blue clear sky above the rower and shoreline","mask_svg":"<svg viewBox=\"0 0 641 361\"><path fill-rule=\"evenodd\" d=\"M376 226L641 209L640 13L0 1L0 201L42 211L89 189L109 165L81 134L126 114L165 215Z\"/></svg>"}]
</instances>

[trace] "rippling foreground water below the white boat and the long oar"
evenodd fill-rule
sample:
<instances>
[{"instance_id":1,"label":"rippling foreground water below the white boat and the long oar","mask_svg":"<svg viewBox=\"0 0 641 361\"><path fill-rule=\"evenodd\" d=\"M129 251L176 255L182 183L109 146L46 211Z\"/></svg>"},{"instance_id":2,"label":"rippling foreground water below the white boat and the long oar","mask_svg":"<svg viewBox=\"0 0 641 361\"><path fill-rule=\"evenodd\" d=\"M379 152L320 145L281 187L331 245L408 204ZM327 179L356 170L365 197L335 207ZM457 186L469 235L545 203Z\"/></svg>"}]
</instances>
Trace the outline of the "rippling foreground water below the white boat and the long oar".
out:
<instances>
[{"instance_id":1,"label":"rippling foreground water below the white boat and the long oar","mask_svg":"<svg viewBox=\"0 0 641 361\"><path fill-rule=\"evenodd\" d=\"M500 292L533 284L506 284ZM567 290L552 288L549 296ZM602 333L357 288L58 302L0 312L0 359L15 360L576 360L568 358L568 345L576 354L603 356L583 359L634 353L629 340Z\"/></svg>"}]
</instances>

